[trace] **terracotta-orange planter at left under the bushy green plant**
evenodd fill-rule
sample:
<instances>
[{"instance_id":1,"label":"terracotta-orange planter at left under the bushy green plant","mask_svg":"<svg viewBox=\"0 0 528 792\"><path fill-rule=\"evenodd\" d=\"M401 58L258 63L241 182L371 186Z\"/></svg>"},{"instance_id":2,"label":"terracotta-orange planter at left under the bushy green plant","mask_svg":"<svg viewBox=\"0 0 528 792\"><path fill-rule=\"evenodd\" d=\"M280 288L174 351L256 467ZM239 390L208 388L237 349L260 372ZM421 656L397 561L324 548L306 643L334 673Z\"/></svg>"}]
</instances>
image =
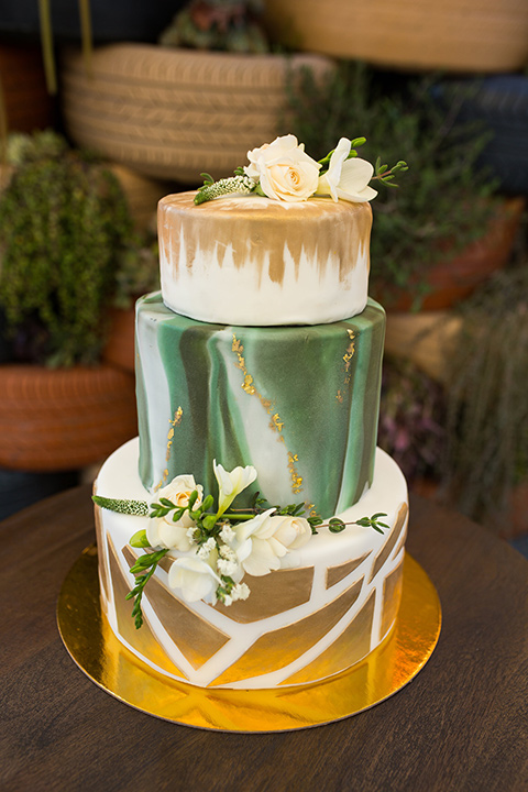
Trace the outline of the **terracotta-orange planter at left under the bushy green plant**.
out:
<instances>
[{"instance_id":1,"label":"terracotta-orange planter at left under the bushy green plant","mask_svg":"<svg viewBox=\"0 0 528 792\"><path fill-rule=\"evenodd\" d=\"M0 468L80 469L136 432L132 374L109 365L0 367Z\"/></svg>"}]
</instances>

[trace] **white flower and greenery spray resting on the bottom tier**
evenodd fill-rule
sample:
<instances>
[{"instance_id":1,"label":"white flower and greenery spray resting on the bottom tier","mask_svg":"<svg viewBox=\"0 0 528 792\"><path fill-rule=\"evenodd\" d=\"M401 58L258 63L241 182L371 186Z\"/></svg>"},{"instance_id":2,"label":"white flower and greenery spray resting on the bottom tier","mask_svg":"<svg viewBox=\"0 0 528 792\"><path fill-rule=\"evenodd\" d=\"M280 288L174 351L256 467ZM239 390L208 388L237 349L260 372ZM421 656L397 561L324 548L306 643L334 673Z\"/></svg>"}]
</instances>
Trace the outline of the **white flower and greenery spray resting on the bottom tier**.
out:
<instances>
[{"instance_id":1,"label":"white flower and greenery spray resting on the bottom tier","mask_svg":"<svg viewBox=\"0 0 528 792\"><path fill-rule=\"evenodd\" d=\"M204 497L204 487L193 475L176 476L150 502L94 495L94 502L102 508L148 517L147 527L130 539L132 547L147 550L131 568L135 585L127 595L134 600L136 628L143 624L141 598L145 585L167 554L172 559L168 585L183 600L204 600L211 605L219 601L229 606L250 595L248 584L242 582L245 574L262 576L280 569L280 559L304 547L318 528L328 527L332 532L345 528L338 517L326 524L312 510L304 517L305 504L266 508L267 504L256 497L251 508L229 510L234 498L255 481L256 470L248 465L227 471L215 461L213 471L219 491L216 507L212 495ZM383 534L382 529L388 528L380 522L384 516L380 513L363 517L354 525Z\"/></svg>"}]
</instances>

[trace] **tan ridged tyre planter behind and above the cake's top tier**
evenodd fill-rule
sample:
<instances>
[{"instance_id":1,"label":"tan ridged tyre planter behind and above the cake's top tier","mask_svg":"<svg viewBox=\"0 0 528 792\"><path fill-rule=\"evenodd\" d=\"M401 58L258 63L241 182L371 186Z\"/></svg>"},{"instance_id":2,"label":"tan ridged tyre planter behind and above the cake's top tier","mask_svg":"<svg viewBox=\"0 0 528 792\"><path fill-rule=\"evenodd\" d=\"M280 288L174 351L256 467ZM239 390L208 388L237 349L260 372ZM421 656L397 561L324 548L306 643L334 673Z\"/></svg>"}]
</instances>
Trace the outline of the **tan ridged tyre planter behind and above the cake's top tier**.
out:
<instances>
[{"instance_id":1,"label":"tan ridged tyre planter behind and above the cake's top tier","mask_svg":"<svg viewBox=\"0 0 528 792\"><path fill-rule=\"evenodd\" d=\"M94 53L94 78L65 53L67 130L86 145L147 176L201 184L230 176L250 148L272 141L288 68L331 68L317 55L232 55L116 44Z\"/></svg>"}]
</instances>

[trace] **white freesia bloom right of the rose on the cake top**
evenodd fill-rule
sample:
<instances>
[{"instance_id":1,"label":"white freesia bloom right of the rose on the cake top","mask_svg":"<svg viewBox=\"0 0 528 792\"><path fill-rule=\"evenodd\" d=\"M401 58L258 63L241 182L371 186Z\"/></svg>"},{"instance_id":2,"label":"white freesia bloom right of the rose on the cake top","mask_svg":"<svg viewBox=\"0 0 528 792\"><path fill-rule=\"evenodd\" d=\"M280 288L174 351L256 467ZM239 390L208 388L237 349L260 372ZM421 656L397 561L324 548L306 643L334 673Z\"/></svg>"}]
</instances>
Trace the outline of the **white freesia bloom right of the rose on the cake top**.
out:
<instances>
[{"instance_id":1,"label":"white freesia bloom right of the rose on the cake top","mask_svg":"<svg viewBox=\"0 0 528 792\"><path fill-rule=\"evenodd\" d=\"M363 204L376 197L376 190L369 187L374 175L373 166L360 157L346 160L350 147L350 140L341 138L330 157L328 172L319 176L317 195L329 195L334 201L341 198L354 204Z\"/></svg>"}]
</instances>

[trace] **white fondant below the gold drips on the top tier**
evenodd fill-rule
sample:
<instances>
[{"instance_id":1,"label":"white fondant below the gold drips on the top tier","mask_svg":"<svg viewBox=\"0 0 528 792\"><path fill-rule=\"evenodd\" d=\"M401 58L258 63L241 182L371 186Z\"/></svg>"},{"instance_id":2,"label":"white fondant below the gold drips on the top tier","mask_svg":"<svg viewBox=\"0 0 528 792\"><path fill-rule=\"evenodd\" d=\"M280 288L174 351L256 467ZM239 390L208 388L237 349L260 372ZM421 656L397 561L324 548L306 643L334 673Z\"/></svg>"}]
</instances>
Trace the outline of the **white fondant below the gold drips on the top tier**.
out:
<instances>
[{"instance_id":1,"label":"white fondant below the gold drips on the top tier","mask_svg":"<svg viewBox=\"0 0 528 792\"><path fill-rule=\"evenodd\" d=\"M167 197L168 199L168 197ZM331 199L318 199L330 205ZM295 205L257 196L226 197L215 201L217 215L233 209L251 215L270 207L280 211L309 213L311 201ZM197 222L200 208L195 207ZM188 243L185 223L177 212L158 213L160 265L163 301L176 314L200 321L238 326L323 324L361 314L369 288L369 243L354 240L349 252L355 262L343 275L342 262L328 240L312 250L302 246L294 256L287 229L283 243L285 272L282 282L272 278L270 257L262 251L254 257L251 240L245 243L244 266L237 266L233 245ZM188 216L186 221L189 222ZM237 223L232 233L237 235ZM275 242L275 241L274 241ZM240 244L240 243L239 243Z\"/></svg>"}]
</instances>

